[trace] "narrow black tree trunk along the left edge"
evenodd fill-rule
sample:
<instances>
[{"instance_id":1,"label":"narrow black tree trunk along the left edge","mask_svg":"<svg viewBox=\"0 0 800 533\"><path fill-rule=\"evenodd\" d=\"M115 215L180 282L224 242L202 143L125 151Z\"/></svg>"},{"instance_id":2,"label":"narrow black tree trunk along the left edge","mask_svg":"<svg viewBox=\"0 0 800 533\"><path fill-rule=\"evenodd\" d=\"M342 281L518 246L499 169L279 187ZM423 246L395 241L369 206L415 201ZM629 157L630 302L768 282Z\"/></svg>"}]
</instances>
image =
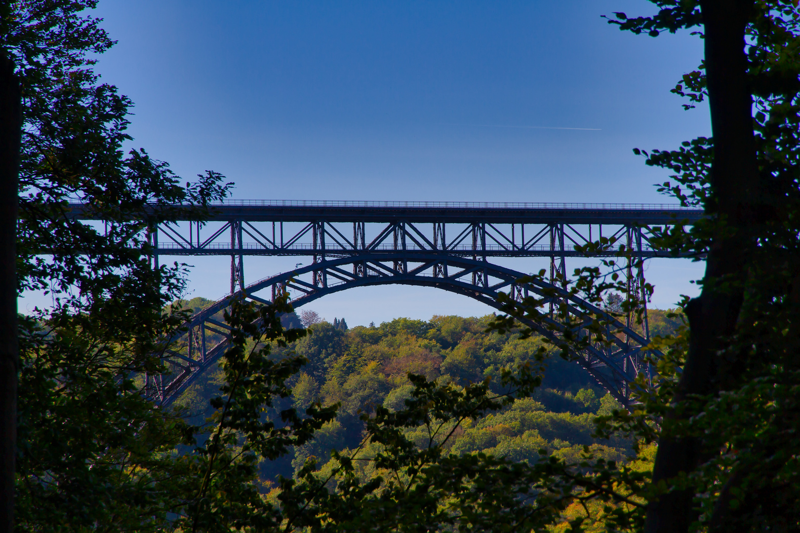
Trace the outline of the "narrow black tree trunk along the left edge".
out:
<instances>
[{"instance_id":1,"label":"narrow black tree trunk along the left edge","mask_svg":"<svg viewBox=\"0 0 800 533\"><path fill-rule=\"evenodd\" d=\"M17 444L17 186L22 126L14 63L0 52L0 533L14 527Z\"/></svg>"}]
</instances>

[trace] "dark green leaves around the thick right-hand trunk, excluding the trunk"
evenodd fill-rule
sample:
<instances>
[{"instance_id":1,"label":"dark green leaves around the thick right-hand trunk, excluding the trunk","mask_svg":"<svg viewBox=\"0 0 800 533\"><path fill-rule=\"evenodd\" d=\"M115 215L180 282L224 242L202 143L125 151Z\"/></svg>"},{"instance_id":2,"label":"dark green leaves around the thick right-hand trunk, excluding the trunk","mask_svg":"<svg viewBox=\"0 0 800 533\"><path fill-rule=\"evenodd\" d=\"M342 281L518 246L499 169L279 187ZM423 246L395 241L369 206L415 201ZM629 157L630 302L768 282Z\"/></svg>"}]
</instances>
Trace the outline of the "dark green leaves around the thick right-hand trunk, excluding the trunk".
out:
<instances>
[{"instance_id":1,"label":"dark green leaves around the thick right-hand trunk, excluding the trunk","mask_svg":"<svg viewBox=\"0 0 800 533\"><path fill-rule=\"evenodd\" d=\"M702 23L700 2L669 2L678 14L671 20L620 17L623 29L659 30ZM690 475L669 479L660 487L679 487L694 495L698 523L715 531L764 531L798 527L796 491L800 478L790 459L796 443L797 418L791 414L798 376L797 213L798 145L800 145L800 16L797 2L748 2L746 6L746 79L754 101L752 128L758 164L758 187L748 199L755 214L742 224L728 217L709 217L690 232L663 231L659 242L674 251L702 253L738 239L744 259L738 272L723 278L706 276L703 292L724 298L736 295L735 326L722 339L716 381L718 392L674 401L680 382L670 371L682 364L675 352L686 347L688 331L662 344L670 356L662 364L668 377L658 392L645 396L639 418L618 416L619 428L654 440L652 423L664 416L662 438L694 438L706 459ZM740 6L741 8L741 6ZM677 24L677 26L675 26ZM706 63L685 74L674 93L694 103L709 97ZM698 137L676 150L637 150L648 165L672 171L660 185L684 205L717 213L724 197L719 176L710 172L714 140ZM724 179L724 178L723 178ZM689 308L686 308L687 314ZM694 324L696 327L697 324ZM792 354L792 355L790 355ZM781 412L782 409L787 412ZM781 412L778 414L778 412ZM784 436L784 437L781 437ZM777 459L782 458L782 459ZM778 463L780 466L778 466ZM786 470L784 468L787 468Z\"/></svg>"}]
</instances>

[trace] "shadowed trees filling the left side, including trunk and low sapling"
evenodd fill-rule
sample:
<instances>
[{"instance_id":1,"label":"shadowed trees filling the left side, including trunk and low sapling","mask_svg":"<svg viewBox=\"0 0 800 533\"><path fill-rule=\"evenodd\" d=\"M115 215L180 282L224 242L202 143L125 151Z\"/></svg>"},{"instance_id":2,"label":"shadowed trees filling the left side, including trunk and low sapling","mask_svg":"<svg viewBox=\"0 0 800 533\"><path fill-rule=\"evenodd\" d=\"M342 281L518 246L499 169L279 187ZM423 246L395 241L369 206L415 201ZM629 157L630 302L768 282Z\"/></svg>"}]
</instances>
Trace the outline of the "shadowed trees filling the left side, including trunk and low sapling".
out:
<instances>
[{"instance_id":1,"label":"shadowed trees filling the left side, including trunk and low sapling","mask_svg":"<svg viewBox=\"0 0 800 533\"><path fill-rule=\"evenodd\" d=\"M280 313L292 312L285 298L258 310L237 303L226 314L234 338L222 363L225 399L214 400L207 424L190 426L142 386L143 375L170 372L162 356L180 348L168 340L180 337L186 319L178 303L184 265L150 261L150 228L178 217L202 221L232 184L208 171L182 185L144 150L123 152L132 104L92 70L94 54L114 44L82 13L95 4L10 2L0 26L24 102L20 183L2 197L10 208L20 194L19 220L12 209L2 212L16 226L4 233L17 237L13 300L26 289L53 298L20 323L15 529L265 531L274 520L254 514L263 508L258 460L304 444L334 409L310 416L290 409L277 424L262 417L262 408L288 395L286 379L305 362L269 356L271 344L305 334L282 328ZM13 120L2 112L3 122ZM10 172L7 148L2 170ZM70 217L74 201L102 224ZM7 266L3 283L14 281ZM2 346L16 338L4 336ZM13 364L12 354L0 355ZM2 393L11 392L4 382ZM13 413L3 415L13 424ZM3 428L4 439L13 436ZM4 451L4 473L13 473L14 455Z\"/></svg>"}]
</instances>

